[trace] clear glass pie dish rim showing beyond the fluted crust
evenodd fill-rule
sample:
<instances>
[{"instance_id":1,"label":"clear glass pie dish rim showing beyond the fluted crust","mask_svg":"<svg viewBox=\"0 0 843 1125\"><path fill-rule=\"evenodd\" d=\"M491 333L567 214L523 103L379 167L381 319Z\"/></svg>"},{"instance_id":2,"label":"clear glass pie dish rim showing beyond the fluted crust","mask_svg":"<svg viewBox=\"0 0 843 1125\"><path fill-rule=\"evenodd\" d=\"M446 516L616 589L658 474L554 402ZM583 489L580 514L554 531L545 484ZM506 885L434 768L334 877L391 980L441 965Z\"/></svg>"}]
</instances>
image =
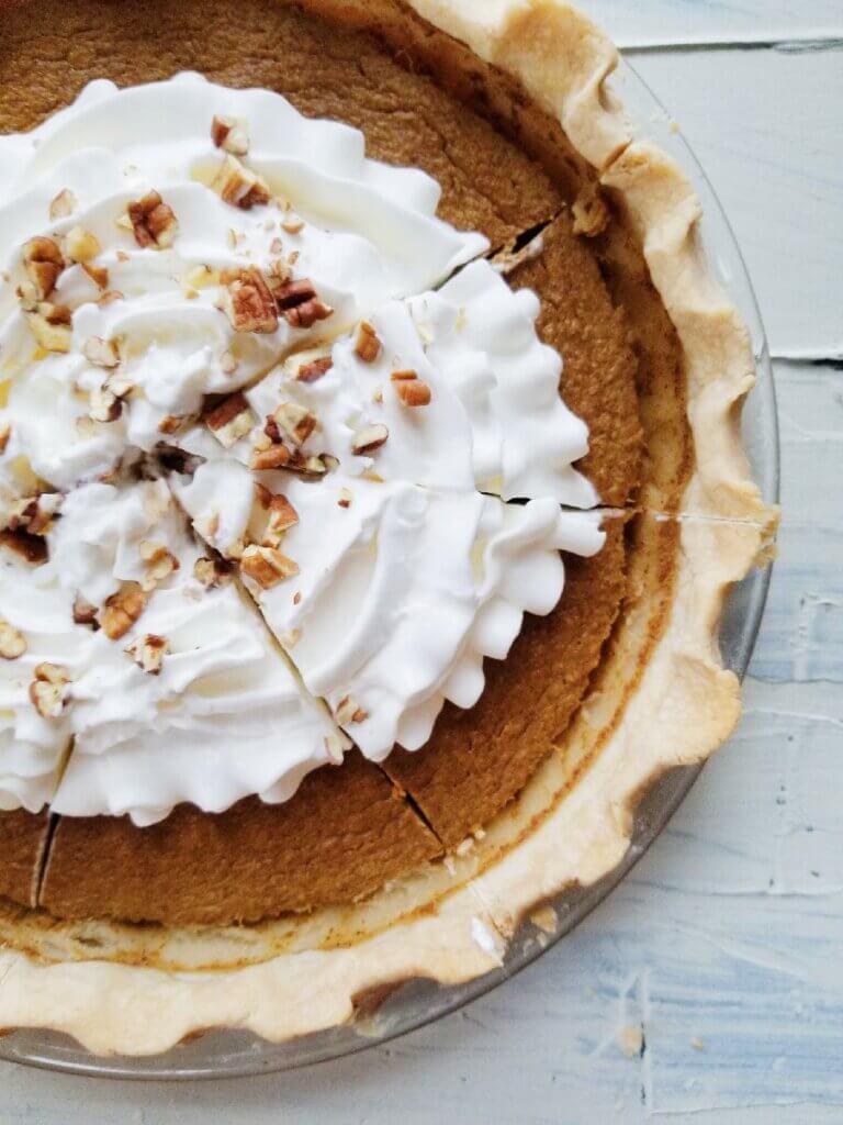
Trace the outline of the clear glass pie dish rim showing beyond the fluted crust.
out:
<instances>
[{"instance_id":1,"label":"clear glass pie dish rim showing beyond the fluted crust","mask_svg":"<svg viewBox=\"0 0 843 1125\"><path fill-rule=\"evenodd\" d=\"M677 132L669 112L624 60L611 80L638 134L667 150L692 179L703 200L703 237L715 274L740 308L752 338L758 382L743 411L743 439L755 480L768 503L779 498L779 434L772 367L761 315L735 236L699 161ZM771 567L753 570L729 595L722 626L724 662L743 678L752 656ZM597 883L565 891L553 901L559 924L552 936L525 921L509 943L504 964L461 986L409 981L392 992L373 1015L285 1043L269 1043L238 1030L214 1030L165 1054L98 1056L66 1035L16 1030L0 1038L0 1060L46 1070L98 1078L170 1079L242 1078L291 1070L354 1054L387 1043L484 996L569 934L626 876L656 839L699 776L703 766L673 770L650 789L638 806L632 842L622 863Z\"/></svg>"}]
</instances>

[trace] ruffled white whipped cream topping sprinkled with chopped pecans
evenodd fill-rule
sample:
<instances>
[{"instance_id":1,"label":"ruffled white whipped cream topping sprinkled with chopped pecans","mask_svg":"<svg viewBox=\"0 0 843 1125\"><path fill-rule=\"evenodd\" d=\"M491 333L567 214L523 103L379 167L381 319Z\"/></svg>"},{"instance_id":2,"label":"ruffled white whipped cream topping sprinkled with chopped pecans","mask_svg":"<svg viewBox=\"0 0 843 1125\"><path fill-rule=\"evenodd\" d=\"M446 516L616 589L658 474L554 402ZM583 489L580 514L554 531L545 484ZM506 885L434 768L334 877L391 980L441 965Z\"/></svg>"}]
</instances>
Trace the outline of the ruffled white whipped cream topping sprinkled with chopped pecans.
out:
<instances>
[{"instance_id":1,"label":"ruffled white whipped cream topping sprinkled with chopped pecans","mask_svg":"<svg viewBox=\"0 0 843 1125\"><path fill-rule=\"evenodd\" d=\"M49 551L3 562L0 807L148 825L420 749L604 542L536 297L266 91L94 82L0 156L0 523Z\"/></svg>"}]
</instances>

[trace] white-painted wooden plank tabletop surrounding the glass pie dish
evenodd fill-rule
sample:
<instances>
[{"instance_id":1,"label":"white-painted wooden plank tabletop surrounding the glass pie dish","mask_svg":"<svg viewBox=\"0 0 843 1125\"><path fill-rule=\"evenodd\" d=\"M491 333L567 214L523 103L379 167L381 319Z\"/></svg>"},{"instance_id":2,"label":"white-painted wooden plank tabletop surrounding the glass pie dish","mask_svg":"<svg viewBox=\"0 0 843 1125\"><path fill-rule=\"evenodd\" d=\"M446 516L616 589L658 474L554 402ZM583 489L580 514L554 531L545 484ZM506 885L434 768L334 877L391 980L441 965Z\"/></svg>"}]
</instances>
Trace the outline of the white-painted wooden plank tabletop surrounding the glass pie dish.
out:
<instances>
[{"instance_id":1,"label":"white-painted wooden plank tabletop surrounding the glass pie dish","mask_svg":"<svg viewBox=\"0 0 843 1125\"><path fill-rule=\"evenodd\" d=\"M466 1010L251 1081L0 1064L2 1125L843 1122L843 0L588 7L708 171L776 360L785 523L740 734L633 876Z\"/></svg>"}]
</instances>

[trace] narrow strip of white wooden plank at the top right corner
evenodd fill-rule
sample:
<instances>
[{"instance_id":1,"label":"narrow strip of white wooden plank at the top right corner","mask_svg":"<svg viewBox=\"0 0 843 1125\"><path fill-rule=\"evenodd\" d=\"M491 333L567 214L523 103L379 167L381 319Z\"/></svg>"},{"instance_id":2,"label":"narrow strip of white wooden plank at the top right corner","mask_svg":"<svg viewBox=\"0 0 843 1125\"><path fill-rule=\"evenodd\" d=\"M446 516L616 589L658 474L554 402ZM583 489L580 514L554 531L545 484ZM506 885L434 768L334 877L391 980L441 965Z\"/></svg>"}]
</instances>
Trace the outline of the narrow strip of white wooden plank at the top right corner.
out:
<instances>
[{"instance_id":1,"label":"narrow strip of white wooden plank at the top right corner","mask_svg":"<svg viewBox=\"0 0 843 1125\"><path fill-rule=\"evenodd\" d=\"M843 36L839 0L579 0L622 47Z\"/></svg>"}]
</instances>

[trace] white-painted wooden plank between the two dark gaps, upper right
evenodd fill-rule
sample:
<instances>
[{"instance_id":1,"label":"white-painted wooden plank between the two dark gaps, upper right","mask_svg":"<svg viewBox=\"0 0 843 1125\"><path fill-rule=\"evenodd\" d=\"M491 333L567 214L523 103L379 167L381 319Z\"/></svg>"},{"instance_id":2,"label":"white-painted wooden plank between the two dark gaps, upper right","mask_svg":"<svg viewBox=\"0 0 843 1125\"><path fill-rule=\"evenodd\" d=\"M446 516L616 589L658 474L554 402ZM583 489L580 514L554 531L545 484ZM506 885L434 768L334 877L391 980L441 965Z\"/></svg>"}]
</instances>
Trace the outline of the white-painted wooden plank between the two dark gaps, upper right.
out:
<instances>
[{"instance_id":1,"label":"white-painted wooden plank between the two dark gaps, upper right","mask_svg":"<svg viewBox=\"0 0 843 1125\"><path fill-rule=\"evenodd\" d=\"M773 354L843 357L843 51L668 52L633 62L723 202Z\"/></svg>"}]
</instances>

